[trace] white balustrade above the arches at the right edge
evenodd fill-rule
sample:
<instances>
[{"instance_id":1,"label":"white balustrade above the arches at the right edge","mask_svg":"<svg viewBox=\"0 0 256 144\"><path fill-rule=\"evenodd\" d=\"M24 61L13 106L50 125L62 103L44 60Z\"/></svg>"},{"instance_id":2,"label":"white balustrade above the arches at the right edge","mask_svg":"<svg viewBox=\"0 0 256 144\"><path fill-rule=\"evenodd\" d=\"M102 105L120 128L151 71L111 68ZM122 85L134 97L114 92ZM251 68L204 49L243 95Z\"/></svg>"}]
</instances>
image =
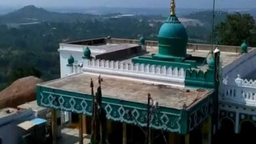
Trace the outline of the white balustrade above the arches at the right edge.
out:
<instances>
[{"instance_id":1,"label":"white balustrade above the arches at the right edge","mask_svg":"<svg viewBox=\"0 0 256 144\"><path fill-rule=\"evenodd\" d=\"M235 82L233 86L223 84L220 100L256 107L256 81L241 79L238 75Z\"/></svg>"}]
</instances>

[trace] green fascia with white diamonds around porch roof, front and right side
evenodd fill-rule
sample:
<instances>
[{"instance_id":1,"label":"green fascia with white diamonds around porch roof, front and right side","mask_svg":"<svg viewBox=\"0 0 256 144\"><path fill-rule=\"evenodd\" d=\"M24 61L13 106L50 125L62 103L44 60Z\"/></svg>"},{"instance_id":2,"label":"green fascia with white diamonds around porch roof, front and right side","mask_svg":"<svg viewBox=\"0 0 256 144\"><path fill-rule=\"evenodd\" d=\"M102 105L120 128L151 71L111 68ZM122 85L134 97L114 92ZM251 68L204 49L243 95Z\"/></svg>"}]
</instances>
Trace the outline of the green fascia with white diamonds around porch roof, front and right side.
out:
<instances>
[{"instance_id":1,"label":"green fascia with white diamonds around porch roof, front and right side","mask_svg":"<svg viewBox=\"0 0 256 144\"><path fill-rule=\"evenodd\" d=\"M150 121L150 128L188 134L198 124L209 117L213 111L214 95L208 96L192 108L173 109L160 107ZM37 86L37 104L72 113L87 116L92 115L92 97L90 94L81 94L66 90L58 90ZM137 126L146 126L147 104L136 101L102 98L102 106L106 111L106 118L117 122L125 122Z\"/></svg>"}]
</instances>

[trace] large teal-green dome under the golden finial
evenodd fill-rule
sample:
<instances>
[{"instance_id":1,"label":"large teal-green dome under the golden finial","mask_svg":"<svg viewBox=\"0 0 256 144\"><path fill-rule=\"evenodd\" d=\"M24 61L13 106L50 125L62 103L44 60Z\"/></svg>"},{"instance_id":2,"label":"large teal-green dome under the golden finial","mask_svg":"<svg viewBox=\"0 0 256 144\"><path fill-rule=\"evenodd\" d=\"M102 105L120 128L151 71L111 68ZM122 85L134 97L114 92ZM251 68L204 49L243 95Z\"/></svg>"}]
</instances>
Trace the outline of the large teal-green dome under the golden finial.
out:
<instances>
[{"instance_id":1,"label":"large teal-green dome under the golden finial","mask_svg":"<svg viewBox=\"0 0 256 144\"><path fill-rule=\"evenodd\" d=\"M186 57L188 35L175 15L171 15L158 33L158 56L162 58Z\"/></svg>"}]
</instances>

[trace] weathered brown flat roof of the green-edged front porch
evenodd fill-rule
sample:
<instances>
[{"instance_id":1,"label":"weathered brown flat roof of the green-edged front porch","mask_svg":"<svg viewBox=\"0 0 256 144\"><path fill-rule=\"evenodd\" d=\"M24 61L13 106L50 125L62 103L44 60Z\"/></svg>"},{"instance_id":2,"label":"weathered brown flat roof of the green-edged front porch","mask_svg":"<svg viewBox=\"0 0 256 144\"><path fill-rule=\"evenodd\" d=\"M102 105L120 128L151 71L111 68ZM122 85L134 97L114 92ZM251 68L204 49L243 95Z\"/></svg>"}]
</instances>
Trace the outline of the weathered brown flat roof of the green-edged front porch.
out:
<instances>
[{"instance_id":1,"label":"weathered brown flat roof of the green-edged front porch","mask_svg":"<svg viewBox=\"0 0 256 144\"><path fill-rule=\"evenodd\" d=\"M110 75L101 75L101 77L103 79L103 97L147 103L148 93L150 93L154 101L158 101L160 106L174 109L182 109L184 104L186 104L186 107L189 107L213 92L213 90L185 90L178 87L125 77ZM93 73L80 73L38 85L81 94L91 94L91 79L93 79L96 90L98 86L98 75Z\"/></svg>"}]
</instances>

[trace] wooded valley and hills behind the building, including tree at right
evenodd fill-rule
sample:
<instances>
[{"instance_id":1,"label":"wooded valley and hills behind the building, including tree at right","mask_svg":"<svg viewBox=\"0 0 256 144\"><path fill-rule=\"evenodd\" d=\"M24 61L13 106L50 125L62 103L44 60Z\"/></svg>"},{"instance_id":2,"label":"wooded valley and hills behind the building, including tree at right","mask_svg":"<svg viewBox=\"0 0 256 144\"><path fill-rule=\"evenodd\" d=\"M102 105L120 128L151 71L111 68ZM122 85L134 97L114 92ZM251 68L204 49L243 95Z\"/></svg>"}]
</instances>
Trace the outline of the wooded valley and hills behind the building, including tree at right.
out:
<instances>
[{"instance_id":1,"label":"wooded valley and hills behind the building, including tree at right","mask_svg":"<svg viewBox=\"0 0 256 144\"><path fill-rule=\"evenodd\" d=\"M203 22L202 26L186 27L190 42L208 42L211 32L209 14L202 12L187 16ZM226 13L219 14L221 19L217 22L224 20ZM108 35L139 39L142 33L148 40L157 40L158 30L164 19L163 16L115 18L116 15L60 14L28 6L0 16L0 90L16 79L28 75L41 77L43 81L60 77L59 43ZM24 22L37 23L20 25ZM228 16L216 28L217 40L223 45L240 45L242 39L253 44L256 39L253 24L253 19L248 15ZM234 41L230 39L231 36L234 36ZM236 41L238 42L235 43Z\"/></svg>"}]
</instances>

